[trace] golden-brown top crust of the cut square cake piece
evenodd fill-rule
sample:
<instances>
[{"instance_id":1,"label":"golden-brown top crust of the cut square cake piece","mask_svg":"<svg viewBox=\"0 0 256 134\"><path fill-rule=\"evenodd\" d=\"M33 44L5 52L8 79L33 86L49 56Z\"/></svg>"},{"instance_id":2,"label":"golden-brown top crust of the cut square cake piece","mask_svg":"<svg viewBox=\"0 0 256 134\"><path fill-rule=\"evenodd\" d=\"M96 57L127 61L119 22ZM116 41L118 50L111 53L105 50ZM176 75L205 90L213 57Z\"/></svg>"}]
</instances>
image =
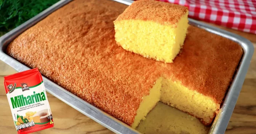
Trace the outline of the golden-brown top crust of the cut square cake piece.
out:
<instances>
[{"instance_id":1,"label":"golden-brown top crust of the cut square cake piece","mask_svg":"<svg viewBox=\"0 0 256 134\"><path fill-rule=\"evenodd\" d=\"M187 7L155 0L138 0L133 2L115 21L143 20L154 21L162 25L174 25L186 14Z\"/></svg>"}]
</instances>

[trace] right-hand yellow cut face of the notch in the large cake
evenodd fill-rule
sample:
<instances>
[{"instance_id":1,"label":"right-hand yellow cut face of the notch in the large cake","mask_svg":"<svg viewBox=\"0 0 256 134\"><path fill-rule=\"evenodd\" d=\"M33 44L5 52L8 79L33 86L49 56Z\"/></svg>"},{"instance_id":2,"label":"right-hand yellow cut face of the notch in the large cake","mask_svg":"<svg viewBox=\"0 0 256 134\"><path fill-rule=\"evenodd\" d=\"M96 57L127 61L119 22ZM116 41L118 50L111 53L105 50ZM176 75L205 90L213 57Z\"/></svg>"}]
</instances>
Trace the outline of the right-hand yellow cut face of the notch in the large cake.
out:
<instances>
[{"instance_id":1,"label":"right-hand yellow cut face of the notch in the large cake","mask_svg":"<svg viewBox=\"0 0 256 134\"><path fill-rule=\"evenodd\" d=\"M170 79L162 81L160 101L197 117L206 126L212 123L220 108L213 98Z\"/></svg>"}]
</instances>

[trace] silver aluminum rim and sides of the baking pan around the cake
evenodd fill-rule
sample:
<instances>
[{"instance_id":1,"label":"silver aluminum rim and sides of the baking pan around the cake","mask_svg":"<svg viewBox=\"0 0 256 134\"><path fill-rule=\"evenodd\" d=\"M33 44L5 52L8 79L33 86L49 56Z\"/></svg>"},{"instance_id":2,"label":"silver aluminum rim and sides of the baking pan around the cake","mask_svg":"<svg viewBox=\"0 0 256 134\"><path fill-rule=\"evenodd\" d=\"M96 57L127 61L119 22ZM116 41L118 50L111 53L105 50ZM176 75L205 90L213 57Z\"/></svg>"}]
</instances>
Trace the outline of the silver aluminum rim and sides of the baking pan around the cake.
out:
<instances>
[{"instance_id":1,"label":"silver aluminum rim and sides of the baking pan around the cake","mask_svg":"<svg viewBox=\"0 0 256 134\"><path fill-rule=\"evenodd\" d=\"M30 19L29 21L23 23L21 26L11 30L10 32L6 33L0 38L0 59L5 62L6 64L10 65L14 69L19 72L29 70L30 68L26 65L21 64L16 59L8 56L5 54L5 49L8 44L14 40L19 34L24 32L26 29L29 29L31 26L35 25L38 21L42 20L61 6L69 3L71 0L61 0L58 3L54 4L50 8L46 9L42 13L38 14L34 18ZM130 5L133 1L131 0L115 0L117 2ZM235 104L238 99L238 95L241 91L243 81L245 80L245 75L250 65L251 57L253 56L253 45L247 39L238 36L234 33L227 32L225 30L218 29L213 26L209 26L202 22L195 21L193 19L189 19L189 24L193 26L200 27L205 29L211 33L220 35L225 38L229 38L237 42L243 48L243 57L241 62L238 66L237 72L234 75L234 81L230 85L229 91L226 94L224 102L221 106L221 110L219 114L214 119L214 122L211 126L209 134L223 134L226 131L227 124L229 123L229 119L232 115L234 110ZM71 107L75 108L79 112L83 113L84 115L90 117L94 121L98 122L99 124L105 126L106 128L110 129L111 131L118 133L118 134L135 134L139 133L135 129L131 128L130 126L126 125L122 121L117 120L116 118L108 115L107 113L99 110L98 108L94 107L93 105L83 101L79 97L75 96L74 94L70 93L69 91L65 90L64 88L60 87L59 85L53 83L52 81L48 80L47 78L43 77L46 90L48 93L52 94L53 96L59 98L61 101L65 102L66 104L70 105Z\"/></svg>"}]
</instances>

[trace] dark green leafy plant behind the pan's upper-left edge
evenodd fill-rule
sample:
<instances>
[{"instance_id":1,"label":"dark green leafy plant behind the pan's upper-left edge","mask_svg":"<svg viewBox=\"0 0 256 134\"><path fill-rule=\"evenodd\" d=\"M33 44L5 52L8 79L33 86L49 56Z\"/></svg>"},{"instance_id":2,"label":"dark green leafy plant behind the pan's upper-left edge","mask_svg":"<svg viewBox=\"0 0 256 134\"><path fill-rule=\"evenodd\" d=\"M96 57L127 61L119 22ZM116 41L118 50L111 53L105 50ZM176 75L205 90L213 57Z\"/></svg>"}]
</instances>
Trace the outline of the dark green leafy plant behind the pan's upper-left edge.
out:
<instances>
[{"instance_id":1,"label":"dark green leafy plant behind the pan's upper-left edge","mask_svg":"<svg viewBox=\"0 0 256 134\"><path fill-rule=\"evenodd\" d=\"M0 32L18 27L59 0L0 0Z\"/></svg>"}]
</instances>

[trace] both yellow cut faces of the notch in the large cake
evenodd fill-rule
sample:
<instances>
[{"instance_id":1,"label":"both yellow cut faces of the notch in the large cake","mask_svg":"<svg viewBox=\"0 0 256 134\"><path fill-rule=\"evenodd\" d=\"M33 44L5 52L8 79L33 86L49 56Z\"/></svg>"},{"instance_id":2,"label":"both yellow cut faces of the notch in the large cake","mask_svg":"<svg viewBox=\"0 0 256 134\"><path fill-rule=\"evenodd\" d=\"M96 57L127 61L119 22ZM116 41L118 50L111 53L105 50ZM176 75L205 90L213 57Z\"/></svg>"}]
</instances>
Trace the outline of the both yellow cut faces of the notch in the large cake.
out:
<instances>
[{"instance_id":1,"label":"both yellow cut faces of the notch in the large cake","mask_svg":"<svg viewBox=\"0 0 256 134\"><path fill-rule=\"evenodd\" d=\"M160 77L150 89L149 95L142 97L131 127L136 129L158 102L195 116L205 126L212 123L220 108L220 104L213 98L183 86L180 81Z\"/></svg>"}]
</instances>

